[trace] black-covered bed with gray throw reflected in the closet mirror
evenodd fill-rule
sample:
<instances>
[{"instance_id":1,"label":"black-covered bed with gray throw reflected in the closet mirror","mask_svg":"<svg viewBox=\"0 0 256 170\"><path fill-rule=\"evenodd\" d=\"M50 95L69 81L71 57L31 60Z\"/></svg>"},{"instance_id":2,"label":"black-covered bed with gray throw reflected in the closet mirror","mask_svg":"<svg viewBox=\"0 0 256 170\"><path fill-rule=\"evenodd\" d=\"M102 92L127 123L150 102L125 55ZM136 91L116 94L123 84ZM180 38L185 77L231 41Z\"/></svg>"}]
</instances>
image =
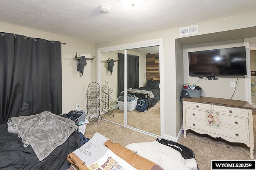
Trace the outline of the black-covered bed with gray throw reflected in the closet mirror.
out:
<instances>
[{"instance_id":1,"label":"black-covered bed with gray throw reflected in the closet mirror","mask_svg":"<svg viewBox=\"0 0 256 170\"><path fill-rule=\"evenodd\" d=\"M140 87L138 89L129 88L127 93L134 95L139 99L148 100L148 109L155 106L160 100L160 88L159 80L147 80L146 86ZM121 96L124 95L124 91L121 92Z\"/></svg>"}]
</instances>

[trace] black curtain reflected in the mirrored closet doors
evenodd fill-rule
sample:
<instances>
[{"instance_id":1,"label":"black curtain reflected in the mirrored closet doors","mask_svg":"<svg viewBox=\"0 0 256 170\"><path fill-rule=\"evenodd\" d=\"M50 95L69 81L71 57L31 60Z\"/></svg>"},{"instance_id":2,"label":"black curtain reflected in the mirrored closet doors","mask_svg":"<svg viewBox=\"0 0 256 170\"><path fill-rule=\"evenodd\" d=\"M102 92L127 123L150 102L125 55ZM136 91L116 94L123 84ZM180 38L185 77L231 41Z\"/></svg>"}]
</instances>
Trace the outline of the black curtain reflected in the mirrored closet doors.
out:
<instances>
[{"instance_id":1,"label":"black curtain reflected in the mirrored closet doors","mask_svg":"<svg viewBox=\"0 0 256 170\"><path fill-rule=\"evenodd\" d=\"M118 53L118 96L124 91L124 54ZM127 88L139 88L139 56L127 55Z\"/></svg>"}]
</instances>

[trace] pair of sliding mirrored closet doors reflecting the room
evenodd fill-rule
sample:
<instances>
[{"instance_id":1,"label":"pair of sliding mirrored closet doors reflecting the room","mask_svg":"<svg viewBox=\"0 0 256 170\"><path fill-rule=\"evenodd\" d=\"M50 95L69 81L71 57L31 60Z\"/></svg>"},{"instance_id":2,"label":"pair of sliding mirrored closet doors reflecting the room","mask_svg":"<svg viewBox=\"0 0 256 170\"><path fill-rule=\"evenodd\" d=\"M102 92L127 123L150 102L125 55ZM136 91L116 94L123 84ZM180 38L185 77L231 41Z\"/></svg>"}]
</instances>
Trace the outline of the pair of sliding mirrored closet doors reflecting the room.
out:
<instances>
[{"instance_id":1,"label":"pair of sliding mirrored closet doors reflecting the room","mask_svg":"<svg viewBox=\"0 0 256 170\"><path fill-rule=\"evenodd\" d=\"M98 49L98 82L103 88L101 114L107 121L161 136L164 126L160 111L161 48L160 43L152 44ZM136 109L143 102L146 109Z\"/></svg>"}]
</instances>

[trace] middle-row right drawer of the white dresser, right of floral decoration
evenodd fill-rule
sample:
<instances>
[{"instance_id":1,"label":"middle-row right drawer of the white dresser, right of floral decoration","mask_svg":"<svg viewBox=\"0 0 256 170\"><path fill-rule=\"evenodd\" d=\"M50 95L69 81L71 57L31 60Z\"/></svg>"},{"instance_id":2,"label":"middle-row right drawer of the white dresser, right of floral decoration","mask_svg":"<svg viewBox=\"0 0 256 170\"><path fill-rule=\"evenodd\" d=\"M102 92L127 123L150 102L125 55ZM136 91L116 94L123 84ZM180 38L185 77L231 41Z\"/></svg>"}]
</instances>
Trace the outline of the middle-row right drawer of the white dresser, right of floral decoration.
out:
<instances>
[{"instance_id":1,"label":"middle-row right drawer of the white dresser, right of floral decoration","mask_svg":"<svg viewBox=\"0 0 256 170\"><path fill-rule=\"evenodd\" d=\"M220 115L220 121L222 124L232 126L235 128L247 128L249 129L249 119L242 117L232 117L229 115Z\"/></svg>"}]
</instances>

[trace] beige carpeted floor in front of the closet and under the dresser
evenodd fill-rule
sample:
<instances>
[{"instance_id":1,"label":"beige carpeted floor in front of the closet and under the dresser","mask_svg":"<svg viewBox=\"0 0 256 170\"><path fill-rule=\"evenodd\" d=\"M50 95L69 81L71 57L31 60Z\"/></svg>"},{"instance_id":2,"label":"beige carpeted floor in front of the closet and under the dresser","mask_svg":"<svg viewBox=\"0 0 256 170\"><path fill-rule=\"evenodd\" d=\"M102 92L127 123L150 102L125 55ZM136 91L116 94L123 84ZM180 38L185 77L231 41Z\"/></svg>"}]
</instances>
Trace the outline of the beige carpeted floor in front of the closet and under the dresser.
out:
<instances>
[{"instance_id":1,"label":"beige carpeted floor in front of the closet and under the dresser","mask_svg":"<svg viewBox=\"0 0 256 170\"><path fill-rule=\"evenodd\" d=\"M256 115L253 115L253 119L254 125L256 125ZM156 140L156 137L104 120L99 125L87 125L85 136L91 138L96 132L116 143L120 143L122 146L129 143ZM254 127L254 141L256 140L255 132L256 126ZM201 135L191 130L187 132L186 138L182 134L179 142L194 151L200 170L210 170L211 160L251 160L249 148L245 144L230 143L221 138L212 138L209 135Z\"/></svg>"}]
</instances>

